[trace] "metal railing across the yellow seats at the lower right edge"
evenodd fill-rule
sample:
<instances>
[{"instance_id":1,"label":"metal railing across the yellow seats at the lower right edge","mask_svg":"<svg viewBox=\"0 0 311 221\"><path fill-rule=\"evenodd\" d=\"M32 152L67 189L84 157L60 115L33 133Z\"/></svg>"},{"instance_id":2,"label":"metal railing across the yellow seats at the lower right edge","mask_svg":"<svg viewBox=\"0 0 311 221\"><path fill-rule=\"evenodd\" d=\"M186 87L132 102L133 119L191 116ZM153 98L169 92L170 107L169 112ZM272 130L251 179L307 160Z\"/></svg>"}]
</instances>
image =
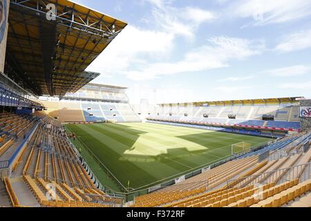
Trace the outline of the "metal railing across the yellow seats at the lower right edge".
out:
<instances>
[{"instance_id":1,"label":"metal railing across the yellow seats at the lower right edge","mask_svg":"<svg viewBox=\"0 0 311 221\"><path fill-rule=\"evenodd\" d=\"M265 172L258 175L250 175L247 177L241 177L238 179L229 180L227 182L227 188L243 188L245 186L255 184L268 184L278 183L281 184L286 181L295 180L299 178L300 182L310 179L311 162L308 164L299 164L284 169L278 169L275 171Z\"/></svg>"}]
</instances>

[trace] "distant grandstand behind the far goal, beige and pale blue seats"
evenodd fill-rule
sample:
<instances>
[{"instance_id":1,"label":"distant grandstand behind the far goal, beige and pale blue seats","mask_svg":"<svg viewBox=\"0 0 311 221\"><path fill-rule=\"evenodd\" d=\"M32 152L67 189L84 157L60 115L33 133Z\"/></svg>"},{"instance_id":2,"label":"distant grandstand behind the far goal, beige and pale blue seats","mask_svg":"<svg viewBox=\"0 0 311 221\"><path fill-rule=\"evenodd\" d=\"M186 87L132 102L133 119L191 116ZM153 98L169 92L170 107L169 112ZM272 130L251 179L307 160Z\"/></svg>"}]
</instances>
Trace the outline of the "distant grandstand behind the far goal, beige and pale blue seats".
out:
<instances>
[{"instance_id":1,"label":"distant grandstand behind the far goal, beige and pale blue seats","mask_svg":"<svg viewBox=\"0 0 311 221\"><path fill-rule=\"evenodd\" d=\"M46 113L61 122L140 122L126 96L126 87L86 84L58 102L41 97Z\"/></svg>"}]
</instances>

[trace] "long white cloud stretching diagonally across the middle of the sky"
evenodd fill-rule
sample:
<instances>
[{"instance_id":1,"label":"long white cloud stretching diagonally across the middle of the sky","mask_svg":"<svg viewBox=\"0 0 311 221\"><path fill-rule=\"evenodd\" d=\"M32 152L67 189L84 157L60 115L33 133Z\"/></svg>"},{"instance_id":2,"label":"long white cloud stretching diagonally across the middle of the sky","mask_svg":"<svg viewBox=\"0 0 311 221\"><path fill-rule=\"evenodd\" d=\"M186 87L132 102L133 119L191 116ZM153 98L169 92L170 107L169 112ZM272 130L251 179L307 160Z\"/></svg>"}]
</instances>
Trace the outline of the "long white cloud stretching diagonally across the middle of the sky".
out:
<instances>
[{"instance_id":1,"label":"long white cloud stretching diagonally across the middle of the sky","mask_svg":"<svg viewBox=\"0 0 311 221\"><path fill-rule=\"evenodd\" d=\"M212 37L209 44L187 52L183 59L172 62L158 62L139 66L136 70L125 71L129 79L154 79L161 75L192 73L229 66L229 60L245 59L261 53L263 46L247 39Z\"/></svg>"}]
</instances>

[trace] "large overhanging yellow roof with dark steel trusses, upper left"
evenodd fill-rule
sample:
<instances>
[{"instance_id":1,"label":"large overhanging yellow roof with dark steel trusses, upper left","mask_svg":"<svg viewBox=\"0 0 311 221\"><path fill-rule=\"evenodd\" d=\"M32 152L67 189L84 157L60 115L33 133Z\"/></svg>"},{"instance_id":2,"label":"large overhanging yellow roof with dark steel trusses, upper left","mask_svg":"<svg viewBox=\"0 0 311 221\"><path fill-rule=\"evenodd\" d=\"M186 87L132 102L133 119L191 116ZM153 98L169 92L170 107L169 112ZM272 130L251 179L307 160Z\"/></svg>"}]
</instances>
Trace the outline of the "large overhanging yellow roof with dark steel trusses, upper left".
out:
<instances>
[{"instance_id":1,"label":"large overhanging yellow roof with dark steel trusses, upper left","mask_svg":"<svg viewBox=\"0 0 311 221\"><path fill-rule=\"evenodd\" d=\"M6 72L35 95L50 96L95 79L99 73L84 70L127 25L68 0L10 0L8 23Z\"/></svg>"}]
</instances>

